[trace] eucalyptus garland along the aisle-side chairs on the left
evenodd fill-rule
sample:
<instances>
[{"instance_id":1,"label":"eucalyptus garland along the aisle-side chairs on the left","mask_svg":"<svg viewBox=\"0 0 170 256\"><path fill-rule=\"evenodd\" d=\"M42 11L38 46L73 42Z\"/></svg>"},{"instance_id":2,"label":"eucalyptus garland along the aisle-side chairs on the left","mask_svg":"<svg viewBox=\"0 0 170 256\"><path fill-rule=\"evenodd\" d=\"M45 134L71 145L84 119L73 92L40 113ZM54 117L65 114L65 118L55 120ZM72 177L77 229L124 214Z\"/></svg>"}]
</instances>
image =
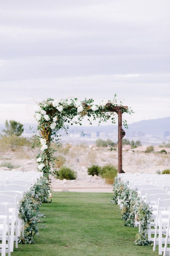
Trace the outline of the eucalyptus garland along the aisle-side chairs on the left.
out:
<instances>
[{"instance_id":1,"label":"eucalyptus garland along the aisle-side chairs on the left","mask_svg":"<svg viewBox=\"0 0 170 256\"><path fill-rule=\"evenodd\" d=\"M49 190L47 178L40 178L20 201L19 218L24 222L24 237L19 238L19 243L35 243L34 236L38 235L39 206L48 202Z\"/></svg>"}]
</instances>

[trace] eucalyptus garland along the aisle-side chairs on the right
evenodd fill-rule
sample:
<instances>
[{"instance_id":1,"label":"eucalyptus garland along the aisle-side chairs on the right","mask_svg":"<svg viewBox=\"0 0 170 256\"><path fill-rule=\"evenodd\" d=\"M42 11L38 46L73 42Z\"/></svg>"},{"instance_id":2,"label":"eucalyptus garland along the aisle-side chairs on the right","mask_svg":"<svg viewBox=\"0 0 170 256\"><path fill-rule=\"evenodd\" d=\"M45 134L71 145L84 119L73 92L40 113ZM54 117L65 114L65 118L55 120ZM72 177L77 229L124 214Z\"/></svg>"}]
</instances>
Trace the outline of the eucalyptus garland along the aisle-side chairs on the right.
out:
<instances>
[{"instance_id":1,"label":"eucalyptus garland along the aisle-side chairs on the right","mask_svg":"<svg viewBox=\"0 0 170 256\"><path fill-rule=\"evenodd\" d=\"M141 223L139 233L136 234L136 245L149 245L152 242L147 239L147 230L151 221L152 211L148 204L138 197L136 190L131 189L119 182L118 178L115 178L113 183L113 197L111 203L117 203L118 197L121 200L122 208L120 210L121 218L125 221L125 226L134 227L135 215L137 221Z\"/></svg>"}]
</instances>

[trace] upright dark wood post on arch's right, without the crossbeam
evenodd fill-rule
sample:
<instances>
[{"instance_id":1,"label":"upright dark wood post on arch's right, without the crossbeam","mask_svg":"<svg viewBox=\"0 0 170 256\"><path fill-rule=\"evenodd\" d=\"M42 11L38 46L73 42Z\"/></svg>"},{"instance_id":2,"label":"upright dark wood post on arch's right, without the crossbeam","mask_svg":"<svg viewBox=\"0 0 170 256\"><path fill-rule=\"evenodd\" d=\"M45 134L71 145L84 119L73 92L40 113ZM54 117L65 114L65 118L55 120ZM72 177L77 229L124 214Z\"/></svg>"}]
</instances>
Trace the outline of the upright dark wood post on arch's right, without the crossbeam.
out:
<instances>
[{"instance_id":1,"label":"upright dark wood post on arch's right, without the crossbeam","mask_svg":"<svg viewBox=\"0 0 170 256\"><path fill-rule=\"evenodd\" d=\"M124 173L122 170L122 110L118 110L118 172ZM124 132L124 131L123 131ZM124 134L123 134L124 135Z\"/></svg>"}]
</instances>

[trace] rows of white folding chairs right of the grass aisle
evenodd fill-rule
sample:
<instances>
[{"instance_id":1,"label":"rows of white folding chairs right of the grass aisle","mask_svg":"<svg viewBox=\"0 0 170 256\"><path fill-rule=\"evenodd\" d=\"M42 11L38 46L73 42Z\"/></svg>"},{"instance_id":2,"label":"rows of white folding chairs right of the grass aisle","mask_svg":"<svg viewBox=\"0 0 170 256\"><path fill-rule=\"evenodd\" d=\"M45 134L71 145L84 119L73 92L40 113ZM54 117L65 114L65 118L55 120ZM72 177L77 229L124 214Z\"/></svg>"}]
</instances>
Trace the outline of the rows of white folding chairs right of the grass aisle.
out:
<instances>
[{"instance_id":1,"label":"rows of white folding chairs right of the grass aisle","mask_svg":"<svg viewBox=\"0 0 170 256\"><path fill-rule=\"evenodd\" d=\"M164 256L166 255L167 250L169 250L167 249L167 243L169 242L168 236L170 234L170 175L168 175L169 174L119 175L121 181L127 182L131 188L138 190L138 194L142 199L145 200L146 203L149 204L150 208L152 209L152 222L150 223L148 230L148 239L154 242L153 250L156 249L156 245L158 244L159 255L162 255L162 252L164 251ZM140 231L140 223L135 222L135 224L139 224ZM166 232L167 227L168 229ZM165 233L166 241L163 237ZM152 237L153 234L154 237ZM163 244L165 244L164 247Z\"/></svg>"}]
</instances>

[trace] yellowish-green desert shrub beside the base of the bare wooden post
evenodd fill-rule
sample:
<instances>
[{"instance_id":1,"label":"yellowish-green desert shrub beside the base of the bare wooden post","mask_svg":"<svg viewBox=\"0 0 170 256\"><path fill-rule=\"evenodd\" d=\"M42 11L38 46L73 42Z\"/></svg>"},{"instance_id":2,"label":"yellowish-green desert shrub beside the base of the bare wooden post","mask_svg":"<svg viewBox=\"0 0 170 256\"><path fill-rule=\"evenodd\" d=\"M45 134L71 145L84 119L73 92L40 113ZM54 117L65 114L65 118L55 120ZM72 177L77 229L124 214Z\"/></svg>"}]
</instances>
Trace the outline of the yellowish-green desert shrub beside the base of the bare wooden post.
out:
<instances>
[{"instance_id":1,"label":"yellowish-green desert shrub beside the base of the bare wooden post","mask_svg":"<svg viewBox=\"0 0 170 256\"><path fill-rule=\"evenodd\" d=\"M101 170L102 178L105 178L106 183L113 184L115 177L117 176L118 170L113 165L105 165Z\"/></svg>"}]
</instances>

